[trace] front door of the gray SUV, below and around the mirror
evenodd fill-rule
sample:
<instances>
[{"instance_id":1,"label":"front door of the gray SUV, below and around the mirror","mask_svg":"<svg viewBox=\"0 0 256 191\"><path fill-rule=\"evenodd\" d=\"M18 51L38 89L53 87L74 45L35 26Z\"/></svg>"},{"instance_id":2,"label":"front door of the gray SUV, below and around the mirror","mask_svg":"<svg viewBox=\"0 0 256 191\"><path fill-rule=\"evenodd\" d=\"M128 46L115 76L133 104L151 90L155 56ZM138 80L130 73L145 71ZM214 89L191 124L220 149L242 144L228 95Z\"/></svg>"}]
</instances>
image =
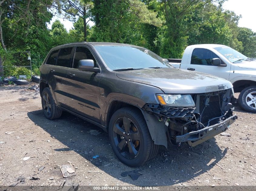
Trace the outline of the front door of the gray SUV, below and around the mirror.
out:
<instances>
[{"instance_id":1,"label":"front door of the gray SUV, below and around the mirror","mask_svg":"<svg viewBox=\"0 0 256 191\"><path fill-rule=\"evenodd\" d=\"M101 73L80 71L77 69L79 60L92 59L95 67L99 67L95 56L87 46L75 49L73 67L68 69L68 105L69 109L99 122L99 80Z\"/></svg>"}]
</instances>

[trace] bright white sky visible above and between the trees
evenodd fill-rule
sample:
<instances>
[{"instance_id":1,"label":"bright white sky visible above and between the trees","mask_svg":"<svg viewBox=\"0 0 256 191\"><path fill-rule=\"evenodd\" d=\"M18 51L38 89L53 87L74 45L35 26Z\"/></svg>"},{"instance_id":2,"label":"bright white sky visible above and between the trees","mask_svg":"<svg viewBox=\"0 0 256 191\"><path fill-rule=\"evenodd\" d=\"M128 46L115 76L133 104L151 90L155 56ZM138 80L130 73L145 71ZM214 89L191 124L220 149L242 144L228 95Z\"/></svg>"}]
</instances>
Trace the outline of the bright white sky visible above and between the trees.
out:
<instances>
[{"instance_id":1,"label":"bright white sky visible above and between the trees","mask_svg":"<svg viewBox=\"0 0 256 191\"><path fill-rule=\"evenodd\" d=\"M256 32L256 0L228 0L224 2L223 9L234 11L237 15L241 14L242 18L239 20L238 26L247 27ZM50 24L48 24L48 28L52 27L52 23L56 19L59 19L68 31L73 27L71 21L54 16ZM92 21L89 21L88 24L89 26L94 25Z\"/></svg>"}]
</instances>

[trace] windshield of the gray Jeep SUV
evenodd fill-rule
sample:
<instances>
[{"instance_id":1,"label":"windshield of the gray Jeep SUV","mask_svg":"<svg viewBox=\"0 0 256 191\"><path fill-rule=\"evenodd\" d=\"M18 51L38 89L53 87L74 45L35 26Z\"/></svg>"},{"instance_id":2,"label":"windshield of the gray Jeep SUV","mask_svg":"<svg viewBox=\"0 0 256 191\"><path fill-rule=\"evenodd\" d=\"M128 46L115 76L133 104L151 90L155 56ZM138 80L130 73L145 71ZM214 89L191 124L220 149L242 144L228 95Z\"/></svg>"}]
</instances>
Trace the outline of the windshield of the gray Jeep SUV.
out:
<instances>
[{"instance_id":1,"label":"windshield of the gray Jeep SUV","mask_svg":"<svg viewBox=\"0 0 256 191\"><path fill-rule=\"evenodd\" d=\"M148 49L131 46L95 46L111 70L122 68L173 68Z\"/></svg>"}]
</instances>

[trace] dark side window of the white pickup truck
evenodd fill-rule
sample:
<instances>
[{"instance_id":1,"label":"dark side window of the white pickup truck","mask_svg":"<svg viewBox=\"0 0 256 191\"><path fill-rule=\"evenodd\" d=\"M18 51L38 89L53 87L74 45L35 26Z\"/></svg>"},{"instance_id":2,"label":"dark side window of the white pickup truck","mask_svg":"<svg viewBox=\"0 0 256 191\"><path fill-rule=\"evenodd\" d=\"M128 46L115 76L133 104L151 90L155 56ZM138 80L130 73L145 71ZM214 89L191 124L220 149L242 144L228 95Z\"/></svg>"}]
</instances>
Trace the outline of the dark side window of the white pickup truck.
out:
<instances>
[{"instance_id":1,"label":"dark side window of the white pickup truck","mask_svg":"<svg viewBox=\"0 0 256 191\"><path fill-rule=\"evenodd\" d=\"M191 64L197 65L212 65L211 60L219 58L215 53L208 49L196 48L191 56Z\"/></svg>"}]
</instances>

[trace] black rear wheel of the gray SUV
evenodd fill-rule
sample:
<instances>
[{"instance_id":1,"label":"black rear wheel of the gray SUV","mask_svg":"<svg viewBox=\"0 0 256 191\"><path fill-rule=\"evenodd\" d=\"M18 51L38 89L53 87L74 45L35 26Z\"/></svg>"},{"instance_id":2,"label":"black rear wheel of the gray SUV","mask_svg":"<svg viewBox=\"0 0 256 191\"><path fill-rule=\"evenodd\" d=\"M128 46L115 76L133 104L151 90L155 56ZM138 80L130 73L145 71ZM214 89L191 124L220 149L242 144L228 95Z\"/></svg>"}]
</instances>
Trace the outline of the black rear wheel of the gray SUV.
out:
<instances>
[{"instance_id":1,"label":"black rear wheel of the gray SUV","mask_svg":"<svg viewBox=\"0 0 256 191\"><path fill-rule=\"evenodd\" d=\"M57 119L61 116L62 110L56 106L50 88L42 91L42 108L47 119Z\"/></svg>"}]
</instances>

